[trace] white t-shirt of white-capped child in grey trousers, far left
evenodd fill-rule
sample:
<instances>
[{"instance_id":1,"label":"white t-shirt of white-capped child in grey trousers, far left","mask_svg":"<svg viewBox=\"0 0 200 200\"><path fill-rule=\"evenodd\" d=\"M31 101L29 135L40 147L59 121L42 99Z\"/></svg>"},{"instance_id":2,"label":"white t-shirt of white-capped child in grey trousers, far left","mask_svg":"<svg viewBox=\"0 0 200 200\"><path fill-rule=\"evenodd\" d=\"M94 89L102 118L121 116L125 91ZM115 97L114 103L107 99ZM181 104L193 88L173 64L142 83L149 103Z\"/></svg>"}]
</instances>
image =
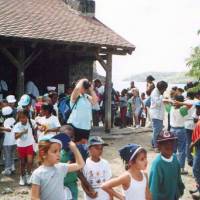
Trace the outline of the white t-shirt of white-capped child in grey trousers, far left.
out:
<instances>
[{"instance_id":1,"label":"white t-shirt of white-capped child in grey trousers, far left","mask_svg":"<svg viewBox=\"0 0 200 200\"><path fill-rule=\"evenodd\" d=\"M3 146L11 146L16 144L15 133L13 132L14 124L15 124L15 119L13 117L7 118L4 121L4 127L10 128L11 132L7 131L4 132L5 136L4 136Z\"/></svg>"}]
</instances>

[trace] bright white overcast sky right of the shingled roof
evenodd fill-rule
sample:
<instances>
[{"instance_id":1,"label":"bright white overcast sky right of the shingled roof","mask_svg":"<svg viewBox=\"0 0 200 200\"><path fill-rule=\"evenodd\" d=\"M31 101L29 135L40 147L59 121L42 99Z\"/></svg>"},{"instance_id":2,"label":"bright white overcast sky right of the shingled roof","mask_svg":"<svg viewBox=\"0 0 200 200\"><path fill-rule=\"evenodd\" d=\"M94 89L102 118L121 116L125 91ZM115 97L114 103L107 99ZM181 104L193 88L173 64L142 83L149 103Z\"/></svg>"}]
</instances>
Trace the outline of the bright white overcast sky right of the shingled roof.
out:
<instances>
[{"instance_id":1,"label":"bright white overcast sky right of the shingled roof","mask_svg":"<svg viewBox=\"0 0 200 200\"><path fill-rule=\"evenodd\" d=\"M96 0L96 17L136 46L130 56L113 56L113 80L186 71L185 60L200 43L199 10L199 0Z\"/></svg>"}]
</instances>

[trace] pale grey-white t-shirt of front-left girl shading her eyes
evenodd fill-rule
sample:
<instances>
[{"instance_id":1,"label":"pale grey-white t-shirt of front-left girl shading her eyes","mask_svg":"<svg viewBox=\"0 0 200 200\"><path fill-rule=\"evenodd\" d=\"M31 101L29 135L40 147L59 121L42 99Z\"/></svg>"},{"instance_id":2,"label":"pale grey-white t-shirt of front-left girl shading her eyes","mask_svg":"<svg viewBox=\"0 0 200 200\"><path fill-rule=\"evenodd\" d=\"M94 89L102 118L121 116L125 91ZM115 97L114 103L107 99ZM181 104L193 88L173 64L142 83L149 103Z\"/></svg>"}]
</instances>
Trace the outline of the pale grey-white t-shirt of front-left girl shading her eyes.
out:
<instances>
[{"instance_id":1,"label":"pale grey-white t-shirt of front-left girl shading her eyes","mask_svg":"<svg viewBox=\"0 0 200 200\"><path fill-rule=\"evenodd\" d=\"M41 200L64 200L64 177L68 171L67 163L38 167L31 176L31 183L40 186Z\"/></svg>"}]
</instances>

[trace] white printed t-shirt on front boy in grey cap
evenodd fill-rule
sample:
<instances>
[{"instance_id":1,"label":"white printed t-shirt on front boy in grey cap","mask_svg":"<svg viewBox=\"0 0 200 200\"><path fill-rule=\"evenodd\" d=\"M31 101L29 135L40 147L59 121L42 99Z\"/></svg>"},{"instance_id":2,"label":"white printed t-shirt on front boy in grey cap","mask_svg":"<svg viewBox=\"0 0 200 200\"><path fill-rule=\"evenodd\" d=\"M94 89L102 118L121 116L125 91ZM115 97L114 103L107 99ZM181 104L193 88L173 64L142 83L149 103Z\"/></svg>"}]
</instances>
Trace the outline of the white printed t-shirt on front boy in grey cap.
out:
<instances>
[{"instance_id":1,"label":"white printed t-shirt on front boy in grey cap","mask_svg":"<svg viewBox=\"0 0 200 200\"><path fill-rule=\"evenodd\" d=\"M100 159L99 162L94 162L91 158L87 158L83 168L83 174L92 188L98 193L95 200L110 200L109 194L101 189L101 185L112 176L108 161ZM86 194L84 196L85 200L94 200Z\"/></svg>"}]
</instances>

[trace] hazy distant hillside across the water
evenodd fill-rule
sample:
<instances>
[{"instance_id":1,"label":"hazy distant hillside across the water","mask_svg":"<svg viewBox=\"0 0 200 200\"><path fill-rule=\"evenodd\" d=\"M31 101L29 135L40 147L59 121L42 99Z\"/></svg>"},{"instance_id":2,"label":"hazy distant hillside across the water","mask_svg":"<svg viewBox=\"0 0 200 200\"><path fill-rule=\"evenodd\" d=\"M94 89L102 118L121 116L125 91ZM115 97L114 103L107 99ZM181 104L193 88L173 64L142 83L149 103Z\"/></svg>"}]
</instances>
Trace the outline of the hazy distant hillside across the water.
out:
<instances>
[{"instance_id":1,"label":"hazy distant hillside across the water","mask_svg":"<svg viewBox=\"0 0 200 200\"><path fill-rule=\"evenodd\" d=\"M156 81L164 80L168 83L187 83L188 81L194 81L192 77L186 75L186 72L144 72L127 77L124 81L134 80L144 82L148 75L152 75Z\"/></svg>"}]
</instances>

